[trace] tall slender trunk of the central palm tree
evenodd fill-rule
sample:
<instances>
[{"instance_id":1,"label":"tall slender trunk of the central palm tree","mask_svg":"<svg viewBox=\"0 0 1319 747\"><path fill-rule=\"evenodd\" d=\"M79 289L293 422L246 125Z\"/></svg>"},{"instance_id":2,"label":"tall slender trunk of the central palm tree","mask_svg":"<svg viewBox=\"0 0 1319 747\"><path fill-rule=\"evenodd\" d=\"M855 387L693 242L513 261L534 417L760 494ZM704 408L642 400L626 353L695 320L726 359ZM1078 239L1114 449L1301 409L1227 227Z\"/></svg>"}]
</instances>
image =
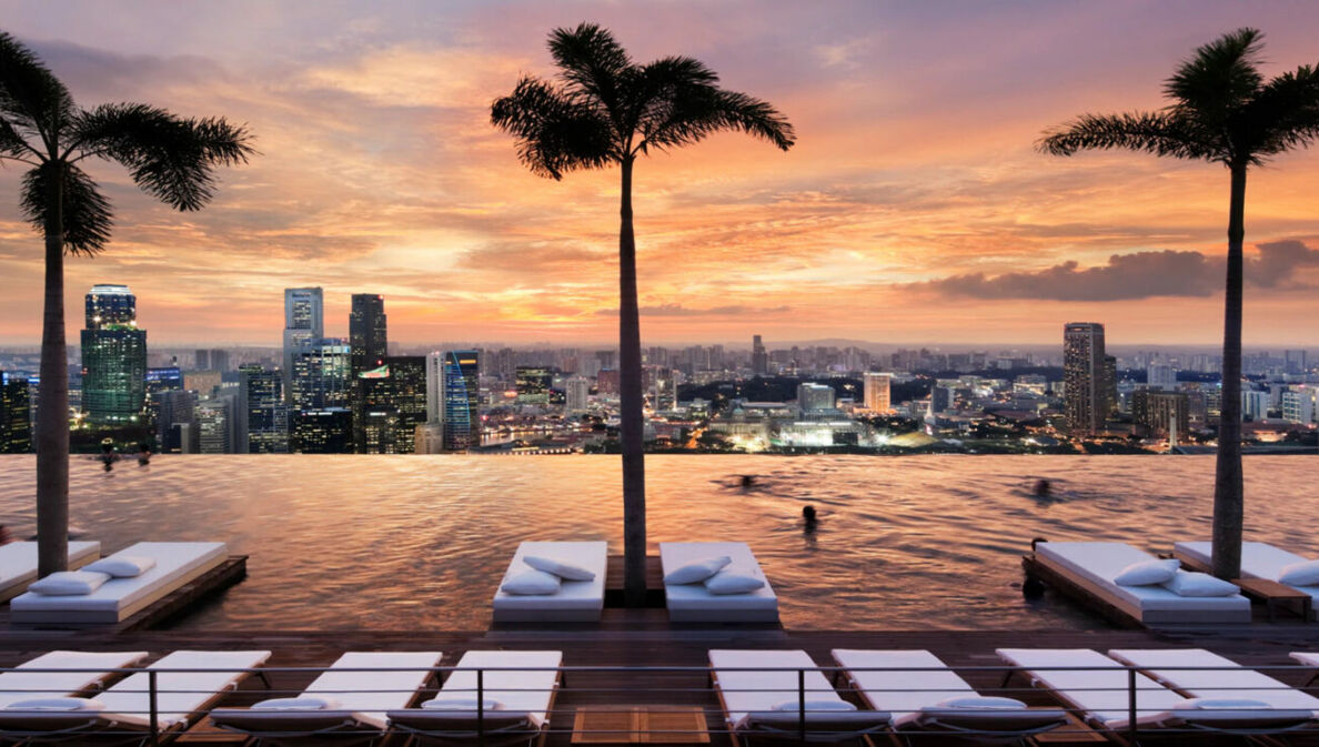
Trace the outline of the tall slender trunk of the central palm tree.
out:
<instances>
[{"instance_id":1,"label":"tall slender trunk of the central palm tree","mask_svg":"<svg viewBox=\"0 0 1319 747\"><path fill-rule=\"evenodd\" d=\"M632 234L632 158L623 161L619 210L619 388L623 438L623 597L646 601L646 466L641 418L641 318L637 310L637 240Z\"/></svg>"}]
</instances>

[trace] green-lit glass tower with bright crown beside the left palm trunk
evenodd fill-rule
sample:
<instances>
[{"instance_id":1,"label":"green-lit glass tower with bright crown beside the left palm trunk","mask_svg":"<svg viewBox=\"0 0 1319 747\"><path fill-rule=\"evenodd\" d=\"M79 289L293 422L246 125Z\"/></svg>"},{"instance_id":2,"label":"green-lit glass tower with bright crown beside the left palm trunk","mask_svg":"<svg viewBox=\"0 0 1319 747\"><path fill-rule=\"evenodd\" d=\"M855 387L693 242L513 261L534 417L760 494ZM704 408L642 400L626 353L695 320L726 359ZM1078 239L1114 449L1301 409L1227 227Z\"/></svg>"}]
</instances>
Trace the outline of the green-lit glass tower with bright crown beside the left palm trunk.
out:
<instances>
[{"instance_id":1,"label":"green-lit glass tower with bright crown beside the left palm trunk","mask_svg":"<svg viewBox=\"0 0 1319 747\"><path fill-rule=\"evenodd\" d=\"M146 401L146 330L127 285L94 285L82 331L82 410L88 422L137 422Z\"/></svg>"}]
</instances>

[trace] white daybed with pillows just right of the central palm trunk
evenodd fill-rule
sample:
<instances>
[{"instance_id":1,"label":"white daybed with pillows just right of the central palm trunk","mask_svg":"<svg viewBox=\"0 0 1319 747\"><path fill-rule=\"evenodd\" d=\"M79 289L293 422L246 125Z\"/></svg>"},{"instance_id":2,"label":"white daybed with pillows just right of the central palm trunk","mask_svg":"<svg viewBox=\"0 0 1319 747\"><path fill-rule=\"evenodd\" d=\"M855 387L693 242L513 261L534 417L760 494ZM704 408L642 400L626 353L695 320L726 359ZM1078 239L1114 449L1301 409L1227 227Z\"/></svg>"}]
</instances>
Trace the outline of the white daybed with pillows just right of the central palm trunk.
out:
<instances>
[{"instance_id":1,"label":"white daybed with pillows just right of the central palm trunk","mask_svg":"<svg viewBox=\"0 0 1319 747\"><path fill-rule=\"evenodd\" d=\"M711 594L702 583L666 583L669 619L675 623L777 623L778 598L747 542L660 542L663 574L711 558L728 556L729 570L765 579L765 586L745 594Z\"/></svg>"}]
</instances>

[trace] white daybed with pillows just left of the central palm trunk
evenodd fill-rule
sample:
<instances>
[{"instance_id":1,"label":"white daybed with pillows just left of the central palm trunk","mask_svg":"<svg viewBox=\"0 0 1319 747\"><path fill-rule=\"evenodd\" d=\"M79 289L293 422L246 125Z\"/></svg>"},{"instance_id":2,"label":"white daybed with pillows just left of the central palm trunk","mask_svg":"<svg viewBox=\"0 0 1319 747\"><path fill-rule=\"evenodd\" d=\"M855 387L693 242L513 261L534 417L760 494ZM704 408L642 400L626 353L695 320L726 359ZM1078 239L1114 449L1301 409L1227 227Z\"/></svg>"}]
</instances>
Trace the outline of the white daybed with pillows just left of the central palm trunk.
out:
<instances>
[{"instance_id":1,"label":"white daybed with pillows just left of the central palm trunk","mask_svg":"<svg viewBox=\"0 0 1319 747\"><path fill-rule=\"evenodd\" d=\"M609 564L608 542L522 542L513 553L504 578L532 570L522 558L539 556L570 562L595 573L591 581L563 581L555 594L517 595L495 593L497 623L590 623L604 608L604 574Z\"/></svg>"}]
</instances>

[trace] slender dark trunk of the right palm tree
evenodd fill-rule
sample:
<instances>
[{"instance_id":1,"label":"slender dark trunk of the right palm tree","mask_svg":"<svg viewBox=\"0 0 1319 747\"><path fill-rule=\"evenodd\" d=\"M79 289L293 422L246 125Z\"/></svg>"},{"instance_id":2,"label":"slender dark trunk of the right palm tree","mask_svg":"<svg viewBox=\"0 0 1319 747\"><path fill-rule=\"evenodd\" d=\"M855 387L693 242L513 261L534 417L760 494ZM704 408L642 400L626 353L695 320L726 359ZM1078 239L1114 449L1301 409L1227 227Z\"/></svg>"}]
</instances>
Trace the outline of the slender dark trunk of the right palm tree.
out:
<instances>
[{"instance_id":1,"label":"slender dark trunk of the right palm tree","mask_svg":"<svg viewBox=\"0 0 1319 747\"><path fill-rule=\"evenodd\" d=\"M1245 240L1245 164L1232 165L1228 218L1228 277L1223 311L1223 399L1219 416L1219 461L1213 482L1213 575L1241 575L1241 245Z\"/></svg>"}]
</instances>

